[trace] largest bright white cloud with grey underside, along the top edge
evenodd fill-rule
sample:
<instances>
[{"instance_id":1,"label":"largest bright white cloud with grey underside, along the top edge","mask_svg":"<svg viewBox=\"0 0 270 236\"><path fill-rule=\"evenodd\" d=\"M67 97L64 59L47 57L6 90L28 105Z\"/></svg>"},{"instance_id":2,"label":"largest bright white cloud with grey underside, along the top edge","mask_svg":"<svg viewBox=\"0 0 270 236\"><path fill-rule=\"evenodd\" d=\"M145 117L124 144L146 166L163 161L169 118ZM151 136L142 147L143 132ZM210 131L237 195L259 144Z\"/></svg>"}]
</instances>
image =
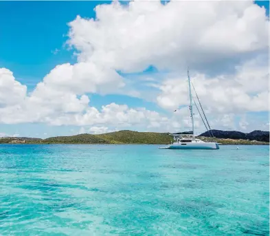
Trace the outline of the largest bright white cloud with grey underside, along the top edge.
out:
<instances>
[{"instance_id":1,"label":"largest bright white cloud with grey underside, along the top edge","mask_svg":"<svg viewBox=\"0 0 270 236\"><path fill-rule=\"evenodd\" d=\"M253 1L117 1L95 8L96 19L69 23L80 62L137 72L238 61L266 49L269 21Z\"/></svg>"}]
</instances>

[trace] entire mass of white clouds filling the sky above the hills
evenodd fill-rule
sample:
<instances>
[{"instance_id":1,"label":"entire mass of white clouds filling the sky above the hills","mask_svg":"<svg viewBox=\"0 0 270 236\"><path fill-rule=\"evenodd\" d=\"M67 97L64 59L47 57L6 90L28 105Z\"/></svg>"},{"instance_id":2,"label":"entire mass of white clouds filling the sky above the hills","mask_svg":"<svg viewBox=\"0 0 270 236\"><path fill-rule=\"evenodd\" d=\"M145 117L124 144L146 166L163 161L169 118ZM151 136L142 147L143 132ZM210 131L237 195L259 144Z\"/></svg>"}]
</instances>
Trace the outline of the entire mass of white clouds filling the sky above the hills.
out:
<instances>
[{"instance_id":1,"label":"entire mass of white clouds filling the sky above the hills","mask_svg":"<svg viewBox=\"0 0 270 236\"><path fill-rule=\"evenodd\" d=\"M56 65L31 92L10 69L0 69L0 123L73 125L91 133L183 129L189 125L190 67L212 127L233 128L237 116L243 130L268 129L254 122L269 111L265 8L253 1L113 1L95 13L95 19L68 23L66 43L76 63ZM149 67L155 73L146 76ZM89 94L150 99L162 112L124 100L98 109ZM198 114L195 124L203 131Z\"/></svg>"}]
</instances>

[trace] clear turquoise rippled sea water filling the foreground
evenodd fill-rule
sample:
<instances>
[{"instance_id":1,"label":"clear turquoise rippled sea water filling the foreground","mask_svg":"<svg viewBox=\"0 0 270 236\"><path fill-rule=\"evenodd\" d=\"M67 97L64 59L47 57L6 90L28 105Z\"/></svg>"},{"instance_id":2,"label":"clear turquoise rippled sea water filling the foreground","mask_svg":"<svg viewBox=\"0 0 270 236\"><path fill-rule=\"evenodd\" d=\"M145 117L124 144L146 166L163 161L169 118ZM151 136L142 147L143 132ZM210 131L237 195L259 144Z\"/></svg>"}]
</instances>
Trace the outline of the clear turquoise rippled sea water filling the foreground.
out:
<instances>
[{"instance_id":1,"label":"clear turquoise rippled sea water filling the foreground","mask_svg":"<svg viewBox=\"0 0 270 236\"><path fill-rule=\"evenodd\" d=\"M1 144L0 235L269 235L269 147Z\"/></svg>"}]
</instances>

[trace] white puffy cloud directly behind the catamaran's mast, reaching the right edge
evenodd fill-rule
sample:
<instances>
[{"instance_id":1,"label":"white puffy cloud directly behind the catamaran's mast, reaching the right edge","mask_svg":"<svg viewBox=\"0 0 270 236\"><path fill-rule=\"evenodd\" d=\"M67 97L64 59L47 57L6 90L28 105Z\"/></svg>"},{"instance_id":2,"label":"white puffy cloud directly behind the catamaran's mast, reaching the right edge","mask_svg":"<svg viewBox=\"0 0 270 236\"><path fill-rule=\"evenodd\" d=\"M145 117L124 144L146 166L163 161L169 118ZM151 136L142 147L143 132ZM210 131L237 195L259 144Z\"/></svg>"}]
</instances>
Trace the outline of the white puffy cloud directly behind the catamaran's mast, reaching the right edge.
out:
<instances>
[{"instance_id":1,"label":"white puffy cloud directly behind the catamaran's mast, reaching the right edge","mask_svg":"<svg viewBox=\"0 0 270 236\"><path fill-rule=\"evenodd\" d=\"M192 83L208 111L237 114L269 110L269 68L268 65L254 63L254 60L236 67L236 74L209 78L205 74L193 73ZM161 93L157 96L157 103L161 107L175 109L188 105L186 75L166 79L159 89ZM192 94L196 100L194 91Z\"/></svg>"}]
</instances>

